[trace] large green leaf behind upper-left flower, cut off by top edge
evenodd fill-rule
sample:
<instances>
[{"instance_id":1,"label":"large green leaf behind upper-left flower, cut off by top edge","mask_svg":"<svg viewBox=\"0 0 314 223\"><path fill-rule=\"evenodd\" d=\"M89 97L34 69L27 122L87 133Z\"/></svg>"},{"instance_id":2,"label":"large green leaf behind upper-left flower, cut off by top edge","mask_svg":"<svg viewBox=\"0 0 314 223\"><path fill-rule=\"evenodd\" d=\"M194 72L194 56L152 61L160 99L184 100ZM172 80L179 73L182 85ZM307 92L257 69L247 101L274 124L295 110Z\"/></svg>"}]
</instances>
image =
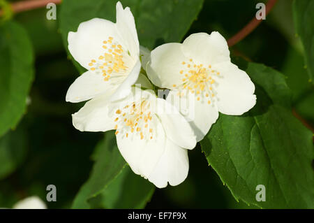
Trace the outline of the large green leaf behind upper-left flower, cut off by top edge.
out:
<instances>
[{"instance_id":1,"label":"large green leaf behind upper-left flower, cut off by top edge","mask_svg":"<svg viewBox=\"0 0 314 223\"><path fill-rule=\"evenodd\" d=\"M68 32L77 31L81 22L100 17L115 22L115 0L64 0L60 13L60 29L64 45ZM179 42L202 8L203 0L123 0L130 7L137 27L140 45L153 49L167 42ZM77 62L75 65L84 72Z\"/></svg>"}]
</instances>

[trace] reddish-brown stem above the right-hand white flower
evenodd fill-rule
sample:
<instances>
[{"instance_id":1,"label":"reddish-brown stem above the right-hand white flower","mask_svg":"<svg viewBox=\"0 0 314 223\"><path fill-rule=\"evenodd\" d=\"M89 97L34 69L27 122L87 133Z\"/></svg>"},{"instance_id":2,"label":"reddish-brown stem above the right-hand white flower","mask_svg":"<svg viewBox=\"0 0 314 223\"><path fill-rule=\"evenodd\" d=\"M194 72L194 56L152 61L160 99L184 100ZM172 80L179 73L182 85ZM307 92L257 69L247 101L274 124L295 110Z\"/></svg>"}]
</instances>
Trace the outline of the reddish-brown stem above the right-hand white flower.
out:
<instances>
[{"instance_id":1,"label":"reddish-brown stem above the right-hand white flower","mask_svg":"<svg viewBox=\"0 0 314 223\"><path fill-rule=\"evenodd\" d=\"M271 8L274 7L277 0L269 0L266 4L266 15L271 11ZM240 31L237 32L234 36L232 36L230 39L228 39L227 43L229 47L232 45L235 45L239 43L242 39L246 38L248 34L251 34L251 32L262 22L262 20L257 20L256 17L251 20L251 22L248 22L245 27L243 27Z\"/></svg>"}]
</instances>

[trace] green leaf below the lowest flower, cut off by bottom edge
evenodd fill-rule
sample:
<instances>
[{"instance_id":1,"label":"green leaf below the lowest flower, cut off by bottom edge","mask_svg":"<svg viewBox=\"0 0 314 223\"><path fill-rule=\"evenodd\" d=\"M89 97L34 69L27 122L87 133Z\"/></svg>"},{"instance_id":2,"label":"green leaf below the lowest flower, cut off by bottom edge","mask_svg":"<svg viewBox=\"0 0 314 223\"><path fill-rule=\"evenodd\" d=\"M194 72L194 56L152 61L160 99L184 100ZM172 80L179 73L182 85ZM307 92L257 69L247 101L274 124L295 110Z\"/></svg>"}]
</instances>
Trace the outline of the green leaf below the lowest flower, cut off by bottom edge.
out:
<instances>
[{"instance_id":1,"label":"green leaf below the lowest flower, cut off by bottom edge","mask_svg":"<svg viewBox=\"0 0 314 223\"><path fill-rule=\"evenodd\" d=\"M93 171L72 208L144 208L151 198L154 185L130 170L115 141L110 131L96 147Z\"/></svg>"}]
</instances>

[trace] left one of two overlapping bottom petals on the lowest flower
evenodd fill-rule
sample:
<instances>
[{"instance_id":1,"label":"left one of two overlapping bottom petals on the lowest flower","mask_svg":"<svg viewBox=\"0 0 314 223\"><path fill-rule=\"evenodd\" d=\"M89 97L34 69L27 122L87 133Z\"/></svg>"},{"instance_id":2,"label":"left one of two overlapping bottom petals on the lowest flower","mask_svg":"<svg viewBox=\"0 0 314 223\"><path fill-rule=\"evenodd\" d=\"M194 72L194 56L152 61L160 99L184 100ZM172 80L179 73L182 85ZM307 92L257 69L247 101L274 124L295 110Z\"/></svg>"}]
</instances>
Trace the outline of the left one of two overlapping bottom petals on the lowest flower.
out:
<instances>
[{"instance_id":1,"label":"left one of two overlapping bottom petals on the lowest flower","mask_svg":"<svg viewBox=\"0 0 314 223\"><path fill-rule=\"evenodd\" d=\"M130 165L133 172L147 178L154 170L158 160L165 150L165 132L160 122L156 123L156 135L153 139L140 139L138 135L117 134L118 148Z\"/></svg>"}]
</instances>

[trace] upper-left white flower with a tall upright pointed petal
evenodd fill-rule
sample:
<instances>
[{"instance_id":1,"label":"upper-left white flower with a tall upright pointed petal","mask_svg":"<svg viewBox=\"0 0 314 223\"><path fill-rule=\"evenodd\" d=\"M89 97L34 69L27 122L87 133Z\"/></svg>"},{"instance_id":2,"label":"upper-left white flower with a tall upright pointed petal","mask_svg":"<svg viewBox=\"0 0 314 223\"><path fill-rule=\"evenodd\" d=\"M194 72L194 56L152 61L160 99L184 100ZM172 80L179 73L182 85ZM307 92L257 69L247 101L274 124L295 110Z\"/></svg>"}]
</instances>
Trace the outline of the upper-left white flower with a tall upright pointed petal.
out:
<instances>
[{"instance_id":1,"label":"upper-left white flower with a tall upright pointed petal","mask_svg":"<svg viewBox=\"0 0 314 223\"><path fill-rule=\"evenodd\" d=\"M86 71L70 85L66 101L87 101L100 94L110 100L130 93L140 73L140 45L130 8L117 3L117 22L94 18L69 32L68 49Z\"/></svg>"}]
</instances>

